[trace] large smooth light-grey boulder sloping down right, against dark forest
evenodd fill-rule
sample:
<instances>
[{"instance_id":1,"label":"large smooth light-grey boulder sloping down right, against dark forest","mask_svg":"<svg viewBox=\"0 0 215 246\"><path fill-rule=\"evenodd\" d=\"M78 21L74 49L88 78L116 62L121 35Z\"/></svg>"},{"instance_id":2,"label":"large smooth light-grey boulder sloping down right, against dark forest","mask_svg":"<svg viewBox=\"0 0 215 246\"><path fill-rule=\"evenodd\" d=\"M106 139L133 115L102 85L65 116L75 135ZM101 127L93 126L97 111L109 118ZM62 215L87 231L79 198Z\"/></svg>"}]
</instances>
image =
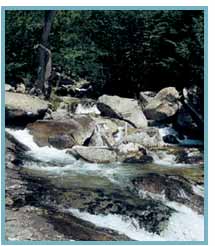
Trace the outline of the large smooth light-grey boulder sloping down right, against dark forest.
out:
<instances>
[{"instance_id":1,"label":"large smooth light-grey boulder sloping down right, against dark forest","mask_svg":"<svg viewBox=\"0 0 215 246\"><path fill-rule=\"evenodd\" d=\"M137 100L131 98L122 98L119 96L103 95L99 97L98 101L109 106L117 115L132 122L136 127L147 126L147 120ZM101 113L105 114L105 112ZM108 116L108 112L106 116Z\"/></svg>"}]
</instances>

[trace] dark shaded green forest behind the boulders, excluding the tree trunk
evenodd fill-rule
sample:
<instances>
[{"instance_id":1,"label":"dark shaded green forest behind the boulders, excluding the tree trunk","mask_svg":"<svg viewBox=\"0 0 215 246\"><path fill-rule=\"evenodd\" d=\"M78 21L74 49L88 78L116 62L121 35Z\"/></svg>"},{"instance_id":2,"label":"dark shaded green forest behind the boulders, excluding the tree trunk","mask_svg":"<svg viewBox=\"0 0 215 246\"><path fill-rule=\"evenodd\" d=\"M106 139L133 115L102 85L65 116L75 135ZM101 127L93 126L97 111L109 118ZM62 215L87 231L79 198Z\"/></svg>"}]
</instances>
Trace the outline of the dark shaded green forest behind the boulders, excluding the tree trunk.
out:
<instances>
[{"instance_id":1,"label":"dark shaded green forest behind the boulders, excluding the tree trunk","mask_svg":"<svg viewBox=\"0 0 215 246\"><path fill-rule=\"evenodd\" d=\"M43 21L6 11L6 83L36 80ZM204 85L203 11L57 11L48 48L55 71L90 81L95 97Z\"/></svg>"}]
</instances>

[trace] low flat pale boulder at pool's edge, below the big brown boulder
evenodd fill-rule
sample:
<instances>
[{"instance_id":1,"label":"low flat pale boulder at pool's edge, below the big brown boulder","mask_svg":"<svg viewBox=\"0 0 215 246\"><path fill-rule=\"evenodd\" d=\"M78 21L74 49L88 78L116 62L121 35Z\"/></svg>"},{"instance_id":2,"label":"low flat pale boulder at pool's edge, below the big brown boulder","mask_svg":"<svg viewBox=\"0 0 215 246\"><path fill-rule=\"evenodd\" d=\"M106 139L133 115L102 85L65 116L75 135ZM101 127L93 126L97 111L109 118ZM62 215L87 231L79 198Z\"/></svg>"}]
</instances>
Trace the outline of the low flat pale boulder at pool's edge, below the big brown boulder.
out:
<instances>
[{"instance_id":1,"label":"low flat pale boulder at pool's edge, below the big brown boulder","mask_svg":"<svg viewBox=\"0 0 215 246\"><path fill-rule=\"evenodd\" d=\"M111 163L117 161L116 152L108 148L74 146L68 153L91 163Z\"/></svg>"}]
</instances>

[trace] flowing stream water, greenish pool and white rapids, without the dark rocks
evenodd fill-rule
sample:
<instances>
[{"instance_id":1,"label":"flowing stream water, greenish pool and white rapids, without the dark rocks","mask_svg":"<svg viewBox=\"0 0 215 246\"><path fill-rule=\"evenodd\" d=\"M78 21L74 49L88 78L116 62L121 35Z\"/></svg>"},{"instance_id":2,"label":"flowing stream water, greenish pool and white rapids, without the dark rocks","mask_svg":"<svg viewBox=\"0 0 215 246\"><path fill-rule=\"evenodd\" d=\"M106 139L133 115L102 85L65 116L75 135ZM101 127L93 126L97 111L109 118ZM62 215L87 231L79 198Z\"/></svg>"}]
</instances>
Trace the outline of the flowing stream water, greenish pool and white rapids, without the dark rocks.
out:
<instances>
[{"instance_id":1,"label":"flowing stream water, greenish pool and white rapids, without the dark rocks","mask_svg":"<svg viewBox=\"0 0 215 246\"><path fill-rule=\"evenodd\" d=\"M58 150L53 147L39 147L29 131L6 129L17 140L29 147L28 157L23 161L23 169L31 175L45 177L56 187L78 187L86 189L100 188L105 191L131 190L131 180L147 173L180 175L191 179L193 190L203 196L202 185L195 184L202 177L203 168L199 165L176 163L176 157L168 151L151 151L153 163L140 164L91 164L76 160L67 150ZM142 193L141 193L142 192ZM132 193L134 199L144 199L144 190ZM66 208L74 216L90 221L97 226L110 228L123 233L134 240L140 241L201 241L204 240L204 216L178 202L170 202L162 194L151 194L154 200L162 200L163 204L175 211L168 222L168 226L160 233L152 233L138 226L135 218L122 214L92 214L78 207ZM130 199L130 198L129 198ZM65 208L64 208L65 209Z\"/></svg>"}]
</instances>

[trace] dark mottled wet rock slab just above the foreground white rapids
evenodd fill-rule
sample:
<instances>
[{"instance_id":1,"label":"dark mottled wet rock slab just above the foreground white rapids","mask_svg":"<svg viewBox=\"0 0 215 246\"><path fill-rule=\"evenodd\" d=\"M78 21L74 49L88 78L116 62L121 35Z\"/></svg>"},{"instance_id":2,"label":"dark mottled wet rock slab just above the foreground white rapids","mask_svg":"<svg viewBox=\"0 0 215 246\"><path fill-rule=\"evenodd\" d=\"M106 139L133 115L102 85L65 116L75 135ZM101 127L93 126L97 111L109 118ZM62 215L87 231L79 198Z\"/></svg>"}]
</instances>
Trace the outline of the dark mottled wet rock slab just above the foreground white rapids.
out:
<instances>
[{"instance_id":1,"label":"dark mottled wet rock slab just above the foreground white rapids","mask_svg":"<svg viewBox=\"0 0 215 246\"><path fill-rule=\"evenodd\" d=\"M47 194L47 202L54 201L55 206L61 208L77 208L81 212L94 215L119 215L130 223L135 220L137 228L144 228L148 232L160 234L168 225L169 218L174 209L164 205L160 201L150 198L141 199L133 193L116 189L110 186L108 190L102 188L75 187L62 192L55 189Z\"/></svg>"}]
</instances>

